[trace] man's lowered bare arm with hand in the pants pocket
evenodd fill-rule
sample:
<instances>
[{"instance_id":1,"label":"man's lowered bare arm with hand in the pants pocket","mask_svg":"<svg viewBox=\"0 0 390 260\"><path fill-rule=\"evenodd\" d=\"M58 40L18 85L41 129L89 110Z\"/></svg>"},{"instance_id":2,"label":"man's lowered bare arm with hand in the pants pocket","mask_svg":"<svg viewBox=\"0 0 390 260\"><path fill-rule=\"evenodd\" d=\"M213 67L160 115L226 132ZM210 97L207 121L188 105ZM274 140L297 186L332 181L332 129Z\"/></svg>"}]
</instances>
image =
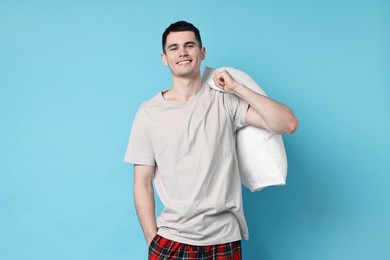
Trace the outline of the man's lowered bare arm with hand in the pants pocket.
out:
<instances>
[{"instance_id":1,"label":"man's lowered bare arm with hand in the pants pocket","mask_svg":"<svg viewBox=\"0 0 390 260\"><path fill-rule=\"evenodd\" d=\"M134 202L139 222L149 246L157 234L153 192L154 166L134 165Z\"/></svg>"}]
</instances>

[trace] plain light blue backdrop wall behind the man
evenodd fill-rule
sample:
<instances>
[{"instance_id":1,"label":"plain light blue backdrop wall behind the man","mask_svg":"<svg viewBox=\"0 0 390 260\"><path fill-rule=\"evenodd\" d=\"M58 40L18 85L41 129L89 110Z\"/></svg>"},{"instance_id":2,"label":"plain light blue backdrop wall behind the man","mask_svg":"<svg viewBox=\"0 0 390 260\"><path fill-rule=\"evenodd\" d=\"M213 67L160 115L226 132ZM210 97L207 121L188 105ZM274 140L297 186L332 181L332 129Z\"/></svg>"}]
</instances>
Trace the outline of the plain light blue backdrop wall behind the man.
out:
<instances>
[{"instance_id":1,"label":"plain light blue backdrop wall behind the man","mask_svg":"<svg viewBox=\"0 0 390 260\"><path fill-rule=\"evenodd\" d=\"M201 30L300 120L288 185L244 191L244 259L390 259L389 1L0 2L0 259L145 259L122 163L170 87L161 33ZM161 208L161 205L158 205Z\"/></svg>"}]
</instances>

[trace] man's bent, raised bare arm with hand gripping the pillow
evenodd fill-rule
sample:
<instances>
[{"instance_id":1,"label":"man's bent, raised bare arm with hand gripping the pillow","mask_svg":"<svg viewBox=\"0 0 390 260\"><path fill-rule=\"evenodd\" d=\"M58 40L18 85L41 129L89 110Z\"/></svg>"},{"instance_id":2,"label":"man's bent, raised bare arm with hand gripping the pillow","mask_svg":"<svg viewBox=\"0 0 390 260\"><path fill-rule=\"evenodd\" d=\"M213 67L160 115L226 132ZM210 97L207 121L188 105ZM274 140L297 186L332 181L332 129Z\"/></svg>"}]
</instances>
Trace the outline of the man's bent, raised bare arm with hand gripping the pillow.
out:
<instances>
[{"instance_id":1,"label":"man's bent, raised bare arm with hand gripping the pillow","mask_svg":"<svg viewBox=\"0 0 390 260\"><path fill-rule=\"evenodd\" d=\"M216 72L214 82L219 88L237 95L250 105L245 117L249 125L274 134L292 134L297 129L298 119L287 106L238 83L226 70Z\"/></svg>"}]
</instances>

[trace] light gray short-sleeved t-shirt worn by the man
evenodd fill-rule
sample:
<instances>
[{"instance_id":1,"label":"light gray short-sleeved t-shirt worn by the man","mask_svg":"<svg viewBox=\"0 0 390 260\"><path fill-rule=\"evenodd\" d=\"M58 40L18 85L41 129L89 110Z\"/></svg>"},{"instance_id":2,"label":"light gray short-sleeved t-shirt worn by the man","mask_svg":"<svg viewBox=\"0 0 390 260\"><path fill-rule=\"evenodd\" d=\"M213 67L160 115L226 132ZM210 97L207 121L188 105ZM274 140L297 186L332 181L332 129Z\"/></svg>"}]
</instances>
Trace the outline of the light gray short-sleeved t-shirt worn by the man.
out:
<instances>
[{"instance_id":1,"label":"light gray short-sleeved t-shirt worn by the man","mask_svg":"<svg viewBox=\"0 0 390 260\"><path fill-rule=\"evenodd\" d=\"M248 239L234 139L247 109L205 84L183 104L162 93L142 104L124 161L156 166L159 235L191 245Z\"/></svg>"}]
</instances>

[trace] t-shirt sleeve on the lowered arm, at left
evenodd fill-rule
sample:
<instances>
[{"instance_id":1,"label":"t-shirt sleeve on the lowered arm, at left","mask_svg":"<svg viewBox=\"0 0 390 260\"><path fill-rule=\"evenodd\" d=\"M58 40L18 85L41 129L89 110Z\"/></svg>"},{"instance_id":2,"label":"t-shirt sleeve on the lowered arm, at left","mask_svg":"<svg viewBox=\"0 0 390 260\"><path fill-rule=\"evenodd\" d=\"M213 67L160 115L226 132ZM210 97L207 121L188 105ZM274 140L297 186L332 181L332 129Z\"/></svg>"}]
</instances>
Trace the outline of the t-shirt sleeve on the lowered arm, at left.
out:
<instances>
[{"instance_id":1,"label":"t-shirt sleeve on the lowered arm, at left","mask_svg":"<svg viewBox=\"0 0 390 260\"><path fill-rule=\"evenodd\" d=\"M131 128L124 162L155 166L154 152L146 121L142 110L139 110Z\"/></svg>"}]
</instances>

